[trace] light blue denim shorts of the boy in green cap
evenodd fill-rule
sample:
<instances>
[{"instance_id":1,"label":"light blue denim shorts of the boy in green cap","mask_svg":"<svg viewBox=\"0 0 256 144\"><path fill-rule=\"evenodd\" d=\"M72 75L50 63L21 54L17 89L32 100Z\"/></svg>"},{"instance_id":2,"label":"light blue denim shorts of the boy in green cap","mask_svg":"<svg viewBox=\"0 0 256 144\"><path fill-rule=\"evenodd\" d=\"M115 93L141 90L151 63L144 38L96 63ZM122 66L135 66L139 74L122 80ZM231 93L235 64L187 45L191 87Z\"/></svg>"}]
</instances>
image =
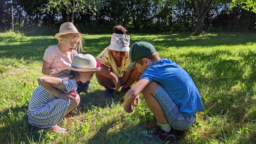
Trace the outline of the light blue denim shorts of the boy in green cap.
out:
<instances>
[{"instance_id":1,"label":"light blue denim shorts of the boy in green cap","mask_svg":"<svg viewBox=\"0 0 256 144\"><path fill-rule=\"evenodd\" d=\"M183 131L188 129L195 123L195 116L183 116L179 107L175 104L169 94L164 90L164 88L159 84L156 92L153 94L156 100L161 105L164 115L171 125L172 128Z\"/></svg>"}]
</instances>

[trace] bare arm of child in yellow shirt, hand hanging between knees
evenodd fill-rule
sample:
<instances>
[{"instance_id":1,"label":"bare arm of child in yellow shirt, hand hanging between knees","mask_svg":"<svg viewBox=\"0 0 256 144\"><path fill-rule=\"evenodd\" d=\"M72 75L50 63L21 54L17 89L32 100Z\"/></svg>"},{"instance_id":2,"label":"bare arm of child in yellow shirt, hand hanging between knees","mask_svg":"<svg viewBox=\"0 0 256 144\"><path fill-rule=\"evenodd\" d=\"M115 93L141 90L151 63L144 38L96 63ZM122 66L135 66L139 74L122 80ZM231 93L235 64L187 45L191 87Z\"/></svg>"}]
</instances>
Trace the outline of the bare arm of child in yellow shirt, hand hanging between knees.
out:
<instances>
[{"instance_id":1,"label":"bare arm of child in yellow shirt, hand hanging between knees","mask_svg":"<svg viewBox=\"0 0 256 144\"><path fill-rule=\"evenodd\" d=\"M118 90L121 86L118 77L113 72L111 72L109 70L110 68L108 68L107 66L101 64L100 67L101 67L101 69L100 69L100 71L97 71L97 74L107 77L109 79L112 79L114 84L116 85L115 89Z\"/></svg>"}]
</instances>

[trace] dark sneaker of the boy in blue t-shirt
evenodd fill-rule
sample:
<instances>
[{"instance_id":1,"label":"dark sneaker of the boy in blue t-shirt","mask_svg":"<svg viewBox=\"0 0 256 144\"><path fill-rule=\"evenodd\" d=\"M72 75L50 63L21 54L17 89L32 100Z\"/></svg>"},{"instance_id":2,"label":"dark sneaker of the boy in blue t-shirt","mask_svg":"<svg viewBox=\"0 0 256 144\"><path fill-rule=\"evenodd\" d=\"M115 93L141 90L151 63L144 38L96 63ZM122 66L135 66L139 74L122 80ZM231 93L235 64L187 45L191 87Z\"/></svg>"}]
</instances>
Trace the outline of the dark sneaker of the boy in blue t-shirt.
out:
<instances>
[{"instance_id":1,"label":"dark sneaker of the boy in blue t-shirt","mask_svg":"<svg viewBox=\"0 0 256 144\"><path fill-rule=\"evenodd\" d=\"M151 139L160 139L165 141L174 142L177 140L177 134L174 132L173 129L171 129L170 132L164 132L164 130L161 129L158 125L156 125L156 128L142 131L141 132L144 136L149 137Z\"/></svg>"}]
</instances>

